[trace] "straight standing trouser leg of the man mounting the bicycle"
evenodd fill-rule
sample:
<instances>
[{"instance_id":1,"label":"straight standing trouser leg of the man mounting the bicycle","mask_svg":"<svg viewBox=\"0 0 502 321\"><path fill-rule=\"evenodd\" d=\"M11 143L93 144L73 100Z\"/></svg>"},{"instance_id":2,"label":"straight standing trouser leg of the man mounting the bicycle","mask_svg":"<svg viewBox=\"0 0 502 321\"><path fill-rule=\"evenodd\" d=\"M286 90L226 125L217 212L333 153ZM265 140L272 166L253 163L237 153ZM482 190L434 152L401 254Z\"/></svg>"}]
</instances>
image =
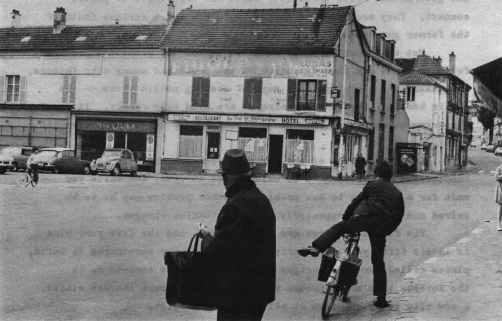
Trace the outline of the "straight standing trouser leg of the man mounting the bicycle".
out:
<instances>
[{"instance_id":1,"label":"straight standing trouser leg of the man mounting the bicycle","mask_svg":"<svg viewBox=\"0 0 502 321\"><path fill-rule=\"evenodd\" d=\"M373 265L373 295L386 295L387 293L387 271L384 262L385 243L385 236L369 234L371 264Z\"/></svg>"}]
</instances>

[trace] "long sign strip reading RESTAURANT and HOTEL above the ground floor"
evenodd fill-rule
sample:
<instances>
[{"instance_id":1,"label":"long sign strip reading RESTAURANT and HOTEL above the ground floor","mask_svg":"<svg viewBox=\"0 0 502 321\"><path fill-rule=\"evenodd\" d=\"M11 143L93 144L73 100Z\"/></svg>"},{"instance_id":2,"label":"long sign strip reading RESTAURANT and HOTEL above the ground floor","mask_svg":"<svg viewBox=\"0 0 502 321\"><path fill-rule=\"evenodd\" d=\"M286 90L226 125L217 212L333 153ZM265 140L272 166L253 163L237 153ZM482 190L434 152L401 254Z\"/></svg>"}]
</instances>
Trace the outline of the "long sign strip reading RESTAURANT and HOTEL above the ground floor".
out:
<instances>
[{"instance_id":1,"label":"long sign strip reading RESTAURANT and HOTEL above the ground floor","mask_svg":"<svg viewBox=\"0 0 502 321\"><path fill-rule=\"evenodd\" d=\"M308 117L275 117L275 116L252 116L252 115L218 115L218 114L169 114L167 120L173 121L215 121L215 122L247 122L269 123L287 125L328 126L328 118Z\"/></svg>"}]
</instances>

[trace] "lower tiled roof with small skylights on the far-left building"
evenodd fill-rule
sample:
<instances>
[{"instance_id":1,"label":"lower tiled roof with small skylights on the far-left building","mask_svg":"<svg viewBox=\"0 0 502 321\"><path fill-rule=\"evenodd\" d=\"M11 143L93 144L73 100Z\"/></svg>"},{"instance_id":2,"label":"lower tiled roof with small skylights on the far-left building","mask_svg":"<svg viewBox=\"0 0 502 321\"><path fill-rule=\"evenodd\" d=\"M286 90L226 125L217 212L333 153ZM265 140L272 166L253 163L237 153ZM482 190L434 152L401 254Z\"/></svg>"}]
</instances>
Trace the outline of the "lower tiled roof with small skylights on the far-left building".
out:
<instances>
[{"instance_id":1,"label":"lower tiled roof with small skylights on the far-left building","mask_svg":"<svg viewBox=\"0 0 502 321\"><path fill-rule=\"evenodd\" d=\"M67 26L60 34L52 31L52 27L2 28L0 52L160 48L166 25ZM136 40L138 36L148 37ZM31 38L21 42L25 37ZM87 38L75 41L78 37Z\"/></svg>"}]
</instances>

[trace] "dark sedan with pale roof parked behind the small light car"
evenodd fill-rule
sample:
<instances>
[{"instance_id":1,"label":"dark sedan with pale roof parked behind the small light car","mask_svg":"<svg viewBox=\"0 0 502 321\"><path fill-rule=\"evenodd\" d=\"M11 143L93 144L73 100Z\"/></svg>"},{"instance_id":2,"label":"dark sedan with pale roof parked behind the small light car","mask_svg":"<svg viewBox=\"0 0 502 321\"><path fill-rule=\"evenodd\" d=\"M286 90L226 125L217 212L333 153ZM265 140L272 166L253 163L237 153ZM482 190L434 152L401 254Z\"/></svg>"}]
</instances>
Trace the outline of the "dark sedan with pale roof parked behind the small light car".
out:
<instances>
[{"instance_id":1,"label":"dark sedan with pale roof parked behind the small light car","mask_svg":"<svg viewBox=\"0 0 502 321\"><path fill-rule=\"evenodd\" d=\"M75 151L70 148L43 148L35 157L35 162L38 163L38 168L41 171L83 175L91 173L90 162L75 157Z\"/></svg>"}]
</instances>

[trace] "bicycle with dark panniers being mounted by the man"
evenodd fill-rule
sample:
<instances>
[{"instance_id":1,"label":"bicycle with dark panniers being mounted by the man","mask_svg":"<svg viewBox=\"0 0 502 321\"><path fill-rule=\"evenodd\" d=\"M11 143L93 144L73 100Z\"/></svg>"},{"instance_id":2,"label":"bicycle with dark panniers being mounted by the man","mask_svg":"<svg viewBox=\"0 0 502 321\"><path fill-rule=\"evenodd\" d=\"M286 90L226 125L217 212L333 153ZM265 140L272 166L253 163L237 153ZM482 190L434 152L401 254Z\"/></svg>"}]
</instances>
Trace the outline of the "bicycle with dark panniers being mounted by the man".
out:
<instances>
[{"instance_id":1,"label":"bicycle with dark panniers being mounted by the man","mask_svg":"<svg viewBox=\"0 0 502 321\"><path fill-rule=\"evenodd\" d=\"M344 252L330 247L322 253L321 266L317 279L326 282L326 292L321 307L322 318L328 317L337 297L347 301L348 291L357 284L357 274L361 266L359 259L360 233L345 234L343 240L347 244Z\"/></svg>"}]
</instances>

